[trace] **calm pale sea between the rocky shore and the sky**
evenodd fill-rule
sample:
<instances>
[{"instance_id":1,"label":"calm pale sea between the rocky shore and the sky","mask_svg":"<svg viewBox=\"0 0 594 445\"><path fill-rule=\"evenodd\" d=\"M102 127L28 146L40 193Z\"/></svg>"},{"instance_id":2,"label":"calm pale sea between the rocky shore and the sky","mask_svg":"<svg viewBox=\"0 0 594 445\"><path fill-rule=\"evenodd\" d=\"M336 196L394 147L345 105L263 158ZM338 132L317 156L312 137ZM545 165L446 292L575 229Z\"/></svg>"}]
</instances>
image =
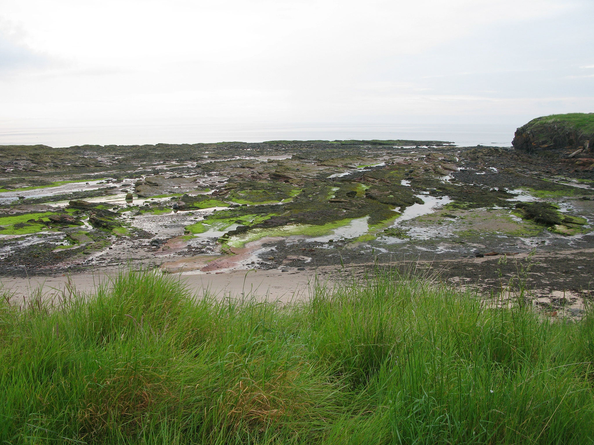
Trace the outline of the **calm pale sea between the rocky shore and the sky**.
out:
<instances>
[{"instance_id":1,"label":"calm pale sea between the rocky shore and the sky","mask_svg":"<svg viewBox=\"0 0 594 445\"><path fill-rule=\"evenodd\" d=\"M0 129L0 145L44 144L194 144L196 142L263 142L278 139L412 139L451 141L460 146L509 147L516 125L367 125L260 127L212 125L109 126L88 128Z\"/></svg>"}]
</instances>

